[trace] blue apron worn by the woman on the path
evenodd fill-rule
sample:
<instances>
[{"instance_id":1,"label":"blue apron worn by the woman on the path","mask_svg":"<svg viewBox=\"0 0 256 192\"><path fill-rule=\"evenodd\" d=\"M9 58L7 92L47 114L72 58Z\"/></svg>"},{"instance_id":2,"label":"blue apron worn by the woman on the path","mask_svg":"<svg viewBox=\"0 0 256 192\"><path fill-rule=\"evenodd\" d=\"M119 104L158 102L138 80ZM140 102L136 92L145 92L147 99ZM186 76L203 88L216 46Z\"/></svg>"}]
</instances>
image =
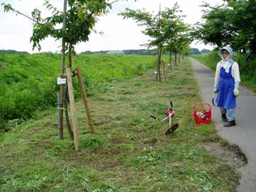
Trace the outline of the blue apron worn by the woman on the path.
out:
<instances>
[{"instance_id":1,"label":"blue apron worn by the woman on the path","mask_svg":"<svg viewBox=\"0 0 256 192\"><path fill-rule=\"evenodd\" d=\"M232 77L232 65L230 66L228 73L225 72L225 68L220 68L220 80L218 82L218 96L216 99L217 107L223 107L224 109L235 109L236 100L233 90L235 88L235 80Z\"/></svg>"}]
</instances>

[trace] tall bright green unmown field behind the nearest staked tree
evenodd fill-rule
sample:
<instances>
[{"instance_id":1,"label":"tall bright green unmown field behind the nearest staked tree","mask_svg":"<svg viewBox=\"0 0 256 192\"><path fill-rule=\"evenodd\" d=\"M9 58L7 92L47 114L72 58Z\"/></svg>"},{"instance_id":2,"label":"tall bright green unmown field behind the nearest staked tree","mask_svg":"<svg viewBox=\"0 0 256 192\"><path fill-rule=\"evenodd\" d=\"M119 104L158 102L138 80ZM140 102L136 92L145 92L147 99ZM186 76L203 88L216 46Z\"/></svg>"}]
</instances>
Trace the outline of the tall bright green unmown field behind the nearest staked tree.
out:
<instances>
[{"instance_id":1,"label":"tall bright green unmown field behind the nearest staked tree","mask_svg":"<svg viewBox=\"0 0 256 192\"><path fill-rule=\"evenodd\" d=\"M105 82L129 79L154 68L154 56L77 55L88 95L105 92ZM0 54L0 129L8 129L9 119L29 119L38 110L56 105L59 90L60 55ZM74 83L75 93L78 84ZM76 94L78 95L78 94Z\"/></svg>"}]
</instances>

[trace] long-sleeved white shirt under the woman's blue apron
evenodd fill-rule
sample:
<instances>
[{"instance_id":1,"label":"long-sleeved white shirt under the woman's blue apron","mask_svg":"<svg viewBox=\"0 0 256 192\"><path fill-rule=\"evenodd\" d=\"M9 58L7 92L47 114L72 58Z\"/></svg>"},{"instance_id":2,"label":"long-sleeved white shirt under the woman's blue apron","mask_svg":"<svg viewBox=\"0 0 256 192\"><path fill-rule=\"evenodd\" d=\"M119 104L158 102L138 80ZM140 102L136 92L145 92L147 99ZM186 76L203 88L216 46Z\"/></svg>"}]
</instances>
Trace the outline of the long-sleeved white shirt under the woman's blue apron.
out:
<instances>
[{"instance_id":1,"label":"long-sleeved white shirt under the woman's blue apron","mask_svg":"<svg viewBox=\"0 0 256 192\"><path fill-rule=\"evenodd\" d=\"M220 68L225 68L225 71L228 73L229 68L231 67L232 63L223 62L220 60L220 62L216 66L216 72L215 72L215 83L214 87L218 87L218 81L220 80ZM234 62L231 70L231 75L235 80L235 88L239 87L239 83L241 82L240 79L240 72L239 72L239 66L238 63Z\"/></svg>"}]
</instances>

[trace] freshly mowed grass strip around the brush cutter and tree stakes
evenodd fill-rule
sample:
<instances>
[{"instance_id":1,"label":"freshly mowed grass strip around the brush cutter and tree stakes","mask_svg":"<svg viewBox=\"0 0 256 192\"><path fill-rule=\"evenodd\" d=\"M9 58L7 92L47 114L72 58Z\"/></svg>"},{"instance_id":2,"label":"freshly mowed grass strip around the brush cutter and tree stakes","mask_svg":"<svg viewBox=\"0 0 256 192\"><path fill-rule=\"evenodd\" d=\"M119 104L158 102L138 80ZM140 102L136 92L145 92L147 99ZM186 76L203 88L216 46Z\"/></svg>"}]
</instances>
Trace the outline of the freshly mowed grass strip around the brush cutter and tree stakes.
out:
<instances>
[{"instance_id":1,"label":"freshly mowed grass strip around the brush cutter and tree stakes","mask_svg":"<svg viewBox=\"0 0 256 192\"><path fill-rule=\"evenodd\" d=\"M76 103L80 149L65 129L58 139L56 110L28 120L0 137L1 191L235 191L235 168L198 144L220 142L214 124L196 126L192 107L201 102L191 63L156 82L154 71L112 81L89 98L96 134L90 134L82 102ZM179 127L166 136L170 100Z\"/></svg>"}]
</instances>

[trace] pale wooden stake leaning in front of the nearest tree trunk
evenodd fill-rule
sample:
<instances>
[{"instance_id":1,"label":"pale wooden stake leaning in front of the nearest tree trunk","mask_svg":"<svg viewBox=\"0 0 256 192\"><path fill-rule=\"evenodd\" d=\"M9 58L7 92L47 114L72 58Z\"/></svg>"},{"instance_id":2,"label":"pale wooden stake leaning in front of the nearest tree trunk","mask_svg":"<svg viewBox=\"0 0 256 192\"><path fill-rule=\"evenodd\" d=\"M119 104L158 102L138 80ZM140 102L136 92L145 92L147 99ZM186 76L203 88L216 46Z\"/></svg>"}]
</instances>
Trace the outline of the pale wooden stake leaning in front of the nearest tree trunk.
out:
<instances>
[{"instance_id":1,"label":"pale wooden stake leaning in front of the nearest tree trunk","mask_svg":"<svg viewBox=\"0 0 256 192\"><path fill-rule=\"evenodd\" d=\"M71 118L72 118L72 124L73 124L75 151L78 151L78 148L79 148L78 122L75 117L75 99L74 99L74 91L73 91L73 84L72 84L70 68L67 68L67 80L68 80L68 95L70 97L70 111L71 111Z\"/></svg>"}]
</instances>

